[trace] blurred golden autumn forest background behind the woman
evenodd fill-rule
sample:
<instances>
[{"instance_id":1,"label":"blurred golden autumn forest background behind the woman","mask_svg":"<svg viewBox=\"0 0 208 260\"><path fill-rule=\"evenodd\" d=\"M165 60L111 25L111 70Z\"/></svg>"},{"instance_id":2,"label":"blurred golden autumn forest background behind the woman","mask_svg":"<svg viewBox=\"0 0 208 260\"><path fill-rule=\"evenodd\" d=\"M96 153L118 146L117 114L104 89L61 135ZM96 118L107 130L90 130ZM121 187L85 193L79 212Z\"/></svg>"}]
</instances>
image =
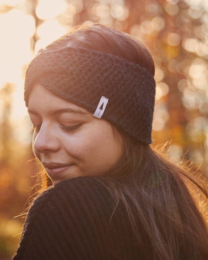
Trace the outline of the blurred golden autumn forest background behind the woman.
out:
<instances>
[{"instance_id":1,"label":"blurred golden autumn forest background behind the woman","mask_svg":"<svg viewBox=\"0 0 208 260\"><path fill-rule=\"evenodd\" d=\"M11 259L37 172L24 71L70 27L101 23L142 40L155 62L153 144L171 141L208 174L207 0L0 0L0 259Z\"/></svg>"}]
</instances>

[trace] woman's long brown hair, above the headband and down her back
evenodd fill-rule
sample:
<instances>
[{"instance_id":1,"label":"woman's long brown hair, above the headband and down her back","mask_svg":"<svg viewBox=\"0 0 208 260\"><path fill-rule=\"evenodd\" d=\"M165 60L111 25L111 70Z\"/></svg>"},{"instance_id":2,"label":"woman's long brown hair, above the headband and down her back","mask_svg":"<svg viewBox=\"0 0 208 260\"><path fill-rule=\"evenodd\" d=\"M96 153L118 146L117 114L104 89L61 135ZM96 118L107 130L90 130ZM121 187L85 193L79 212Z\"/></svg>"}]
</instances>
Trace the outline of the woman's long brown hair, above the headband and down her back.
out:
<instances>
[{"instance_id":1,"label":"woman's long brown hair, above the headband and down her back","mask_svg":"<svg viewBox=\"0 0 208 260\"><path fill-rule=\"evenodd\" d=\"M117 55L155 74L145 44L112 27L78 25L46 49L70 45ZM133 140L114 125L112 129L116 137L118 131L123 135L125 151L113 169L96 178L112 194L115 208L124 206L144 255L151 248L146 259L208 259L207 182L194 171L192 163L188 165L188 160L174 161L167 155L168 142L153 148ZM51 185L44 171L42 176L39 192Z\"/></svg>"}]
</instances>

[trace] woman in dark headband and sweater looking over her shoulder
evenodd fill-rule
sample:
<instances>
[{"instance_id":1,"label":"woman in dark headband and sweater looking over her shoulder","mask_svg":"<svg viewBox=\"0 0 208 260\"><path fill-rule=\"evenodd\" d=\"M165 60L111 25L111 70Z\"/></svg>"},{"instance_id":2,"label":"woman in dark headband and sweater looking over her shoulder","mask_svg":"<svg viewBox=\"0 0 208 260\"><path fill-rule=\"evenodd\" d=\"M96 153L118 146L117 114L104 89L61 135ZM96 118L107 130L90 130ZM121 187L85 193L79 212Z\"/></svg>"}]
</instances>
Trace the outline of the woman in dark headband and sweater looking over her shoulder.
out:
<instances>
[{"instance_id":1,"label":"woman in dark headband and sweater looking over her shoulder","mask_svg":"<svg viewBox=\"0 0 208 260\"><path fill-rule=\"evenodd\" d=\"M129 34L77 26L25 76L33 151L53 185L17 259L208 259L207 184L152 143L155 67Z\"/></svg>"}]
</instances>

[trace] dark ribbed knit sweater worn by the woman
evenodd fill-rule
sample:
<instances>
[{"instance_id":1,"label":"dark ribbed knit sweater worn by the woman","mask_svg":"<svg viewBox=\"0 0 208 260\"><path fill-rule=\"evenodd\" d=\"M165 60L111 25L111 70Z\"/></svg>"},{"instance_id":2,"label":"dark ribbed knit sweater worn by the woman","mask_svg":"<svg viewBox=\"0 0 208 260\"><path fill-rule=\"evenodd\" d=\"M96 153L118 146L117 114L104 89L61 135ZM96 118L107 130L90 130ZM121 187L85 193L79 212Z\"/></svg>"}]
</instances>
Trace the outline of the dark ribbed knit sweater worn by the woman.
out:
<instances>
[{"instance_id":1,"label":"dark ribbed knit sweater worn by the woman","mask_svg":"<svg viewBox=\"0 0 208 260\"><path fill-rule=\"evenodd\" d=\"M31 204L13 260L144 259L123 207L109 224L113 210L113 198L96 177L50 186Z\"/></svg>"}]
</instances>

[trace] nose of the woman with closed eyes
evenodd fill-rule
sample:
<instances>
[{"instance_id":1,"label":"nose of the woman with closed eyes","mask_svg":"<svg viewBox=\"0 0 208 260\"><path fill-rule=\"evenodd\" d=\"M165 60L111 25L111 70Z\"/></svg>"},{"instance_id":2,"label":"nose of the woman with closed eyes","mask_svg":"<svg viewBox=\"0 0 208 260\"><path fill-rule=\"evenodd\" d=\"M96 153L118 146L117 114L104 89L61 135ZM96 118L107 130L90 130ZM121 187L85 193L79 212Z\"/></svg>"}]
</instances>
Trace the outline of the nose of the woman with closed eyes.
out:
<instances>
[{"instance_id":1,"label":"nose of the woman with closed eyes","mask_svg":"<svg viewBox=\"0 0 208 260\"><path fill-rule=\"evenodd\" d=\"M49 125L42 123L38 134L36 135L34 132L33 149L38 153L55 152L60 149L60 143L53 126L49 127Z\"/></svg>"}]
</instances>

